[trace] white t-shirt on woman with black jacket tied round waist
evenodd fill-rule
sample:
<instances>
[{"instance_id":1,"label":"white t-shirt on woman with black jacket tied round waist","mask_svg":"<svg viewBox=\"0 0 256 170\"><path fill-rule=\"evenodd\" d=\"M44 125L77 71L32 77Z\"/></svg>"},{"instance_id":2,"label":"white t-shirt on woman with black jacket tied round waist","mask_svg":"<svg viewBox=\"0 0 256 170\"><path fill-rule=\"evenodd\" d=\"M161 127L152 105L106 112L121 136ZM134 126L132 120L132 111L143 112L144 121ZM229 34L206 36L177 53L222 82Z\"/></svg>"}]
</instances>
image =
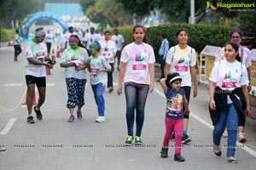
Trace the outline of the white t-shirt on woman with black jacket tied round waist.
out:
<instances>
[{"instance_id":1,"label":"white t-shirt on woman with black jacket tied round waist","mask_svg":"<svg viewBox=\"0 0 256 170\"><path fill-rule=\"evenodd\" d=\"M237 60L230 63L226 59L218 61L213 66L210 81L216 82L218 88L229 91L247 85L249 82L246 66ZM230 96L228 96L228 103L232 103Z\"/></svg>"}]
</instances>

